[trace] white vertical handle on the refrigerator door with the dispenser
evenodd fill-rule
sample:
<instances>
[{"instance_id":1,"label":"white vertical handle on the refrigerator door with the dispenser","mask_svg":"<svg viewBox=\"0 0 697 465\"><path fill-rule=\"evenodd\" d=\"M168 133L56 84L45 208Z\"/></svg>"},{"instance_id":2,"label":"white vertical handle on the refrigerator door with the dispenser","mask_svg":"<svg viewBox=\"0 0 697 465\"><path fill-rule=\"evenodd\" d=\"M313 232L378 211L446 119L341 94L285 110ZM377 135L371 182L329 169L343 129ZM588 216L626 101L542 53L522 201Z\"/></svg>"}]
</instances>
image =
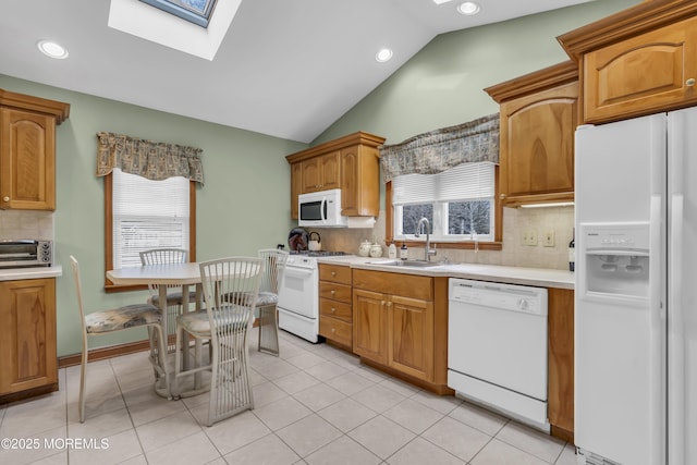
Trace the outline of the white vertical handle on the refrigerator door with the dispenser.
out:
<instances>
[{"instance_id":1,"label":"white vertical handle on the refrigerator door with the dispenser","mask_svg":"<svg viewBox=\"0 0 697 465\"><path fill-rule=\"evenodd\" d=\"M665 328L665 311L661 303L661 258L663 253L661 250L661 244L663 244L663 237L661 234L661 213L662 213L663 197L661 195L651 195L650 200L650 220L649 220L649 318L650 318L650 332L649 332L649 345L650 345L650 358L649 358L649 371L650 371L650 406L649 418L650 432L649 437L652 439L649 446L649 454L651 460L649 463L660 464L663 463L664 454L664 402L665 391L664 383L664 328Z\"/></svg>"}]
</instances>

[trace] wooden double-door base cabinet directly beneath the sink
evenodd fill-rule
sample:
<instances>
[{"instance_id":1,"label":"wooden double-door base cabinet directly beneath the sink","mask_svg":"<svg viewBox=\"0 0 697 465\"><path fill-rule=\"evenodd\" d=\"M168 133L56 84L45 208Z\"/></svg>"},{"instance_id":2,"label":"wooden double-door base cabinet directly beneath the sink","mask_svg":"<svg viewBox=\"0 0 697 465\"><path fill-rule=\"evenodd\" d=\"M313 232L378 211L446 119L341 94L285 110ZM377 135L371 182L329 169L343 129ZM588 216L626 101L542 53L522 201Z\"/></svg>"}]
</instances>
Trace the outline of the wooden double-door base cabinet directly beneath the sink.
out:
<instances>
[{"instance_id":1,"label":"wooden double-door base cabinet directly beneath the sink","mask_svg":"<svg viewBox=\"0 0 697 465\"><path fill-rule=\"evenodd\" d=\"M448 388L448 278L353 270L353 352L443 394Z\"/></svg>"}]
</instances>

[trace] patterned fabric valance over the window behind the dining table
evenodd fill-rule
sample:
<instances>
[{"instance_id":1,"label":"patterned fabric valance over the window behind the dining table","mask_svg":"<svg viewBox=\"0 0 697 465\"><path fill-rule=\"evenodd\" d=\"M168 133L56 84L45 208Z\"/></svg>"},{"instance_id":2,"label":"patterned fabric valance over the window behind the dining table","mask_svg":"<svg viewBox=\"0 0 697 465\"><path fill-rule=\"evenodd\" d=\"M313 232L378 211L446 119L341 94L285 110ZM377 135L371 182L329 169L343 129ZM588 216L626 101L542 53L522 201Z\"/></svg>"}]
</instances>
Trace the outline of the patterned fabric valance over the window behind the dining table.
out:
<instances>
[{"instance_id":1,"label":"patterned fabric valance over the window behind the dining table","mask_svg":"<svg viewBox=\"0 0 697 465\"><path fill-rule=\"evenodd\" d=\"M106 176L114 168L148 180L183 176L204 184L200 148L144 140L122 134L97 133L97 175Z\"/></svg>"}]
</instances>

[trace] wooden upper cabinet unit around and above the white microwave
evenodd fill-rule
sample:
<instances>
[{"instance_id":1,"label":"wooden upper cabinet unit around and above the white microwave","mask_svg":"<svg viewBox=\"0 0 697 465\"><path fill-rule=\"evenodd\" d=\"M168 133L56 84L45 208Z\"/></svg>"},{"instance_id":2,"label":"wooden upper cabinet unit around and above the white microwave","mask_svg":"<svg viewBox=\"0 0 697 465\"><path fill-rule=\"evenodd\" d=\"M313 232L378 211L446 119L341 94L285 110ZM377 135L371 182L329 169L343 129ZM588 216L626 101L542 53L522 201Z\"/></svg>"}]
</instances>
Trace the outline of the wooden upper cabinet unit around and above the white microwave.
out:
<instances>
[{"instance_id":1,"label":"wooden upper cabinet unit around and above the white microwave","mask_svg":"<svg viewBox=\"0 0 697 465\"><path fill-rule=\"evenodd\" d=\"M342 191L343 216L378 216L382 143L383 137L357 132L285 157L291 163L291 217L297 219L298 195L332 188Z\"/></svg>"}]
</instances>

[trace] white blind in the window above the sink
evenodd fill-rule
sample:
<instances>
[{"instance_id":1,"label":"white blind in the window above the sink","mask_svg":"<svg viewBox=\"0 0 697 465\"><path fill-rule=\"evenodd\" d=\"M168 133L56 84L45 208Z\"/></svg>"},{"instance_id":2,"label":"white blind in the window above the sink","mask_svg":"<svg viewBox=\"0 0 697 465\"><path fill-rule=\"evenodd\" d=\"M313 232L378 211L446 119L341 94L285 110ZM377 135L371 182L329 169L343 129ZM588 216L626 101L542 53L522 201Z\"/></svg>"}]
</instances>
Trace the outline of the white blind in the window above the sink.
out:
<instances>
[{"instance_id":1,"label":"white blind in the window above the sink","mask_svg":"<svg viewBox=\"0 0 697 465\"><path fill-rule=\"evenodd\" d=\"M493 198L494 164L462 163L437 174L404 174L392 180L394 205Z\"/></svg>"}]
</instances>

